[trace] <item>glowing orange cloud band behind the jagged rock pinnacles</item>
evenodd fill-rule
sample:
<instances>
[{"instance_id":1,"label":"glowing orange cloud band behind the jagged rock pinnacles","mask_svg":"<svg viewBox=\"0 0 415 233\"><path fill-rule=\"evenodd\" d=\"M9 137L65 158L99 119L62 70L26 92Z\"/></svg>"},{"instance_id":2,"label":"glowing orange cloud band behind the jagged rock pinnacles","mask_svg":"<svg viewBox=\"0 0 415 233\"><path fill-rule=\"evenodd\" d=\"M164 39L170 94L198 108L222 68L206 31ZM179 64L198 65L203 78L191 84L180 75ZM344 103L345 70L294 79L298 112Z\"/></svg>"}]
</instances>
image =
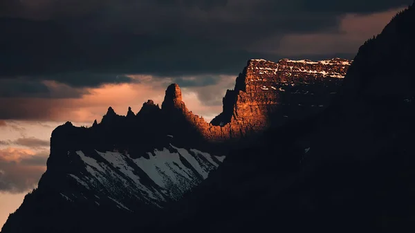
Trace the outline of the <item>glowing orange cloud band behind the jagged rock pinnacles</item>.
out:
<instances>
[{"instance_id":1,"label":"glowing orange cloud band behind the jagged rock pinnacles","mask_svg":"<svg viewBox=\"0 0 415 233\"><path fill-rule=\"evenodd\" d=\"M131 84L106 84L98 88L86 88L76 98L10 98L0 99L0 109L7 109L10 119L53 120L58 122L89 122L101 120L109 106L120 115L127 114L128 106L137 113L147 100L156 104L163 102L165 88L174 79L151 77L150 75L129 75ZM199 77L196 77L199 78ZM221 112L221 100L227 88L233 88L236 76L220 76L219 82L203 86L187 86L183 89L183 100L188 109L205 118ZM62 85L48 82L48 86ZM2 101L3 100L3 101ZM7 101L7 102L6 102ZM87 124L87 125L88 125Z\"/></svg>"}]
</instances>

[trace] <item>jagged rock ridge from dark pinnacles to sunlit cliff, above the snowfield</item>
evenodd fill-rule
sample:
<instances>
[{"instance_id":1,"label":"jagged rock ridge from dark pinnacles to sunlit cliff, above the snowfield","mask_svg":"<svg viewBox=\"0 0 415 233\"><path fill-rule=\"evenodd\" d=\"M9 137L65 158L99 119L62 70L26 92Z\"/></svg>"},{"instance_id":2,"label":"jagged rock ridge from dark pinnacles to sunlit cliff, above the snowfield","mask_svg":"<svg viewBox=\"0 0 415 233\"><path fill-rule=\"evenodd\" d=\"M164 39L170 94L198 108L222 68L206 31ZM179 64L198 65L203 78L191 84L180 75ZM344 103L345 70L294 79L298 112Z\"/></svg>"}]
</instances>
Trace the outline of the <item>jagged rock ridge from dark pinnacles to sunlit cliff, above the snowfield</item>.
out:
<instances>
[{"instance_id":1,"label":"jagged rock ridge from dark pinnacles to sunlit cliff, above the snowfield","mask_svg":"<svg viewBox=\"0 0 415 233\"><path fill-rule=\"evenodd\" d=\"M109 140L118 149L131 149L122 144L130 145L131 138L137 137L152 146L151 141L166 134L174 135L176 140L185 141L187 145L235 142L325 109L342 85L350 64L351 61L340 58L319 62L250 59L239 73L234 89L226 91L222 113L211 122L187 109L181 88L171 84L165 91L161 108L148 100L135 118L131 108L127 116L122 116L110 107L100 124L93 124L91 137L100 138L103 145L108 145L102 138L103 130L116 125L118 133L126 135ZM133 136L125 133L133 130L150 133L145 137L140 133Z\"/></svg>"}]
</instances>

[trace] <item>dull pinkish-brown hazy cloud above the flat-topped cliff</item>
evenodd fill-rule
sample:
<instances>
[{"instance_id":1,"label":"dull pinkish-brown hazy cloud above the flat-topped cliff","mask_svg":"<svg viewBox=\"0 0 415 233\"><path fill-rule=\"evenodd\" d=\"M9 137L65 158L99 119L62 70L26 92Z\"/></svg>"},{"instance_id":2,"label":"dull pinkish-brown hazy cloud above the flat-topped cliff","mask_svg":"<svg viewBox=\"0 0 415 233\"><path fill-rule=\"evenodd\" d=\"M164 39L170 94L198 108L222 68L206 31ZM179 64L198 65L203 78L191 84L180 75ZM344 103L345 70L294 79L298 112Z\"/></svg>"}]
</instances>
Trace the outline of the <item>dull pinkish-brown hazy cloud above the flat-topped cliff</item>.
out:
<instances>
[{"instance_id":1,"label":"dull pinkish-brown hazy cloud above the flat-topped cliff","mask_svg":"<svg viewBox=\"0 0 415 233\"><path fill-rule=\"evenodd\" d=\"M317 53L357 53L362 41L378 35L396 12L396 8L370 15L349 14L340 17L338 30L335 32L313 32L276 35L259 41L253 49L264 53L286 54L288 57L313 55ZM273 49L270 49L273 48Z\"/></svg>"}]
</instances>

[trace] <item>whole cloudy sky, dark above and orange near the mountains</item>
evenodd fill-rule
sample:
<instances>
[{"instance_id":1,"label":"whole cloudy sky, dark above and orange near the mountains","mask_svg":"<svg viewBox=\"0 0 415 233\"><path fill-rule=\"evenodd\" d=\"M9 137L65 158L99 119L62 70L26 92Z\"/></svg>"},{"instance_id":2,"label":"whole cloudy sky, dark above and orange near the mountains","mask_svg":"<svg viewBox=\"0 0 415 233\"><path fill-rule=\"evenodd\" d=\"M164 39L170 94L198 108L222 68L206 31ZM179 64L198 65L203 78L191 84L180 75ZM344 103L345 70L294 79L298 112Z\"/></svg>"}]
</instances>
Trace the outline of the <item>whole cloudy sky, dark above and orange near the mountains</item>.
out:
<instances>
[{"instance_id":1,"label":"whole cloudy sky, dark above and orange near the mountains","mask_svg":"<svg viewBox=\"0 0 415 233\"><path fill-rule=\"evenodd\" d=\"M353 59L412 0L1 0L0 226L51 131L125 115L178 83L210 120L248 59Z\"/></svg>"}]
</instances>

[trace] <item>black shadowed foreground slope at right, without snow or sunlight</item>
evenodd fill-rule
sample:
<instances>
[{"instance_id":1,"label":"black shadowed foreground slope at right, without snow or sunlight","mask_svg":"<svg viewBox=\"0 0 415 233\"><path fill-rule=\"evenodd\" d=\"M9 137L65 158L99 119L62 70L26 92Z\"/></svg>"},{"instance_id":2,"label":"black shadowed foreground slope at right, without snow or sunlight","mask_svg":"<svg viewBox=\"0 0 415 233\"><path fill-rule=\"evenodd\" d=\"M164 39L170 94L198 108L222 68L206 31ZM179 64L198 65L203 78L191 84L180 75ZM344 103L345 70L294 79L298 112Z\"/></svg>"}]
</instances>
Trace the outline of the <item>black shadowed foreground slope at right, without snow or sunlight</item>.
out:
<instances>
[{"instance_id":1,"label":"black shadowed foreground slope at right, without snow or sunlight","mask_svg":"<svg viewBox=\"0 0 415 233\"><path fill-rule=\"evenodd\" d=\"M232 151L151 232L413 232L414 26L413 4L360 47L327 109Z\"/></svg>"}]
</instances>

